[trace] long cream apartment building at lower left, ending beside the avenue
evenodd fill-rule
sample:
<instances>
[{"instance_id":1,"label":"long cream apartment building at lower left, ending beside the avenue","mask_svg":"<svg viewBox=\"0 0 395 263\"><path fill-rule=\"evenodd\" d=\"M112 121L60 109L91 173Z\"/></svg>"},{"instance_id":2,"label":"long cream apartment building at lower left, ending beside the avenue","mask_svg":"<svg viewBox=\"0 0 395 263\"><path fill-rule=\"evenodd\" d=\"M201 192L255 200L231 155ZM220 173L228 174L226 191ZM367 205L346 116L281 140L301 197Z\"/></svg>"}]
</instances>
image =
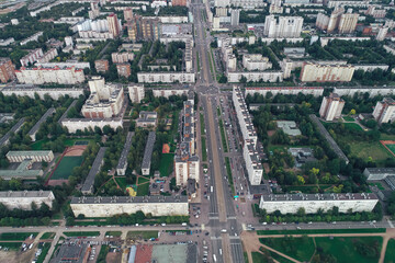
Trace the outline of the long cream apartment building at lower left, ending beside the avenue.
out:
<instances>
[{"instance_id":1,"label":"long cream apartment building at lower left, ending beside the avenue","mask_svg":"<svg viewBox=\"0 0 395 263\"><path fill-rule=\"evenodd\" d=\"M188 216L188 196L82 196L72 197L71 209L76 216L111 217L121 214L159 216Z\"/></svg>"}]
</instances>

